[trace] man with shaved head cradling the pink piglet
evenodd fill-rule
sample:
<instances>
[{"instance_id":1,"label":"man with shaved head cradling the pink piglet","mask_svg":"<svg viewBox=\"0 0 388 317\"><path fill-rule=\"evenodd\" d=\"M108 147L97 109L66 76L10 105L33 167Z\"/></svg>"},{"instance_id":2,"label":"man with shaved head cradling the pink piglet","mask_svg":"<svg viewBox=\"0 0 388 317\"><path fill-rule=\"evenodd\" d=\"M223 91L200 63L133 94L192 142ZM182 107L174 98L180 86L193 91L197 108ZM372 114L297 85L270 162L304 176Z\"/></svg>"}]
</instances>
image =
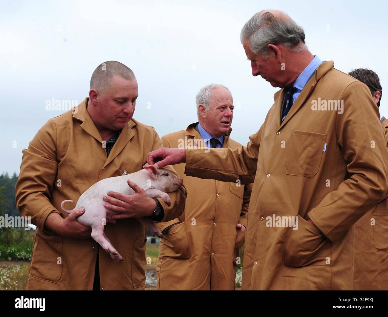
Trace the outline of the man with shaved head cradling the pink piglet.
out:
<instances>
[{"instance_id":1,"label":"man with shaved head cradling the pink piglet","mask_svg":"<svg viewBox=\"0 0 388 317\"><path fill-rule=\"evenodd\" d=\"M183 212L186 191L170 193L171 204L152 199L136 184L133 195L107 192L105 208L120 211L104 234L123 256L115 262L91 238L91 228L64 213L61 202L78 198L108 177L142 169L149 151L162 146L151 126L133 119L137 81L116 61L100 64L90 80L89 97L76 109L50 119L23 150L16 205L37 226L29 290L124 290L145 288L146 227L136 218L169 221ZM168 167L173 173L172 167ZM69 208L69 209L72 209Z\"/></svg>"}]
</instances>

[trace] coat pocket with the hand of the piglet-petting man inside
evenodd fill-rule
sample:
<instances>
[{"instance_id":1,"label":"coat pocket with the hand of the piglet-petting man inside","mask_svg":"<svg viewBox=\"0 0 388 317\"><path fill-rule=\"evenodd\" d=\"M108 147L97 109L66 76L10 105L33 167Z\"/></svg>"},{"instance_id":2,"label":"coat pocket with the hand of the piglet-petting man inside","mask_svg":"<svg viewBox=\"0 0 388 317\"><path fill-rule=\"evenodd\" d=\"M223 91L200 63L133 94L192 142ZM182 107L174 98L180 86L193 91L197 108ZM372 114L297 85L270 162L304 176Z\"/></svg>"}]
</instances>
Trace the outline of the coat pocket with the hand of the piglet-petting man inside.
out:
<instances>
[{"instance_id":1,"label":"coat pocket with the hand of the piglet-petting man inside","mask_svg":"<svg viewBox=\"0 0 388 317\"><path fill-rule=\"evenodd\" d=\"M282 259L287 267L331 265L331 242L315 225L298 216L298 229L290 228Z\"/></svg>"}]
</instances>

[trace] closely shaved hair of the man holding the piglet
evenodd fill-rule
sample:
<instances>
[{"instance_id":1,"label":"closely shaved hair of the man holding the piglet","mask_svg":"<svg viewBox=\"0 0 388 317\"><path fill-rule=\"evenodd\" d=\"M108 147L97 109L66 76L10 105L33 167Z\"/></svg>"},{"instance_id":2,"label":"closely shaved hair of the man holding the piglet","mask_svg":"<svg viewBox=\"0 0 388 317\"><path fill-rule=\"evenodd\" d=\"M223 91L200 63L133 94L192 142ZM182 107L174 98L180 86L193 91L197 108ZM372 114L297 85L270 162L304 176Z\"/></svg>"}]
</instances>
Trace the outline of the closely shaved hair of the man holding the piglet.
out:
<instances>
[{"instance_id":1,"label":"closely shaved hair of the man holding the piglet","mask_svg":"<svg viewBox=\"0 0 388 317\"><path fill-rule=\"evenodd\" d=\"M135 74L133 71L116 61L107 61L100 64L93 72L90 78L90 89L95 89L100 94L103 94L107 89L111 88L113 76L120 76L125 80L134 80Z\"/></svg>"}]
</instances>

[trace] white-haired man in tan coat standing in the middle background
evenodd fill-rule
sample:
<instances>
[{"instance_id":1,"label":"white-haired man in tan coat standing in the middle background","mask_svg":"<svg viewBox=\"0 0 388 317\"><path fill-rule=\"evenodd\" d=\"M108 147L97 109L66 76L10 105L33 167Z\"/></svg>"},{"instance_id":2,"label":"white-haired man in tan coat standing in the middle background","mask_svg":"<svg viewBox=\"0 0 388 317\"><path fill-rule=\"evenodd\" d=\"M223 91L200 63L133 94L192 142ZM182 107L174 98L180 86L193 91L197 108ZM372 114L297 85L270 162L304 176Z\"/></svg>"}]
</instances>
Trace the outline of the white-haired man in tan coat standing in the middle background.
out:
<instances>
[{"instance_id":1,"label":"white-haired man in tan coat standing in the middle background","mask_svg":"<svg viewBox=\"0 0 388 317\"><path fill-rule=\"evenodd\" d=\"M163 146L233 150L242 146L230 139L234 106L228 88L207 85L197 94L196 104L198 121L162 137ZM184 163L175 170L188 196L183 215L158 224L164 238L156 265L157 289L233 290L251 185L187 177Z\"/></svg>"}]
</instances>

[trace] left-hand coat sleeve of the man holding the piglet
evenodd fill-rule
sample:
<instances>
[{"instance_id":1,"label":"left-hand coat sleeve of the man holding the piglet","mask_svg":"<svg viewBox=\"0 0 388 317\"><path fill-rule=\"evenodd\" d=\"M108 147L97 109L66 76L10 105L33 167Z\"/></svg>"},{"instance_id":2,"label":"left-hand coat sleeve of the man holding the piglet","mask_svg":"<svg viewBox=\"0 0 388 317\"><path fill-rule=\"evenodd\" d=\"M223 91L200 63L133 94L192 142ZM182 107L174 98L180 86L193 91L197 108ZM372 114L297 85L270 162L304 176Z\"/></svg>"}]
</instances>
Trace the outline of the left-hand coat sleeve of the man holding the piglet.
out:
<instances>
[{"instance_id":1,"label":"left-hand coat sleeve of the man holding the piglet","mask_svg":"<svg viewBox=\"0 0 388 317\"><path fill-rule=\"evenodd\" d=\"M61 213L50 203L52 188L57 175L57 130L49 120L23 149L19 177L15 186L16 207L24 217L42 232L47 216Z\"/></svg>"}]
</instances>

